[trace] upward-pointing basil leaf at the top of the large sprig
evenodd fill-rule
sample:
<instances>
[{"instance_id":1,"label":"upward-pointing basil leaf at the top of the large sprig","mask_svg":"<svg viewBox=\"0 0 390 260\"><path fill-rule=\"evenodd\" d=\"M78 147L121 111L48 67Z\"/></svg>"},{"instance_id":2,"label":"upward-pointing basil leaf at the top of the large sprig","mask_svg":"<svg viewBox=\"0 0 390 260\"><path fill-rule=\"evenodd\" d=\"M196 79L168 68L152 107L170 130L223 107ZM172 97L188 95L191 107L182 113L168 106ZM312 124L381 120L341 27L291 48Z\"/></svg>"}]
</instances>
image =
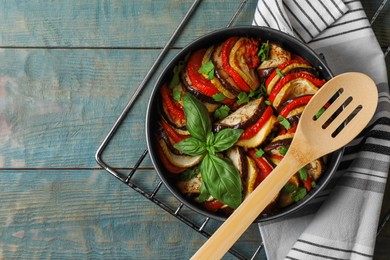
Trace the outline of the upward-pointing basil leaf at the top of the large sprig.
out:
<instances>
[{"instance_id":1,"label":"upward-pointing basil leaf at the top of the large sprig","mask_svg":"<svg viewBox=\"0 0 390 260\"><path fill-rule=\"evenodd\" d=\"M207 134L211 132L211 121L206 106L189 93L184 94L183 106L188 132L199 141L206 142Z\"/></svg>"}]
</instances>

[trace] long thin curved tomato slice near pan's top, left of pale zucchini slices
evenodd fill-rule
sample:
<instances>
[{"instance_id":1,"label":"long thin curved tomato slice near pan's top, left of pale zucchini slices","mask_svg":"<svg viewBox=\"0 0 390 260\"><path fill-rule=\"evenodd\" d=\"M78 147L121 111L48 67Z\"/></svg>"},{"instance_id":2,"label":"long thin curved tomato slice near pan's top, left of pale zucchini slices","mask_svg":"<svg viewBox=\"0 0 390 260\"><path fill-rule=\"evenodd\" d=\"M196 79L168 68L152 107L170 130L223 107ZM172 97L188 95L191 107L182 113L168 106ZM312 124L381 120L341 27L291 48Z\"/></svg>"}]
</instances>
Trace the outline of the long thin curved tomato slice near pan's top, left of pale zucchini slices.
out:
<instances>
[{"instance_id":1,"label":"long thin curved tomato slice near pan's top, left of pale zucchini slices","mask_svg":"<svg viewBox=\"0 0 390 260\"><path fill-rule=\"evenodd\" d=\"M233 78L234 82L236 82L237 86L245 92L251 91L248 84L245 82L243 78L230 66L229 63L229 56L230 52L234 46L234 44L237 42L239 38L238 37L231 37L227 39L223 45L222 45L222 51L221 51L221 58L222 58L222 67L226 71L227 74L229 74L230 77Z\"/></svg>"}]
</instances>

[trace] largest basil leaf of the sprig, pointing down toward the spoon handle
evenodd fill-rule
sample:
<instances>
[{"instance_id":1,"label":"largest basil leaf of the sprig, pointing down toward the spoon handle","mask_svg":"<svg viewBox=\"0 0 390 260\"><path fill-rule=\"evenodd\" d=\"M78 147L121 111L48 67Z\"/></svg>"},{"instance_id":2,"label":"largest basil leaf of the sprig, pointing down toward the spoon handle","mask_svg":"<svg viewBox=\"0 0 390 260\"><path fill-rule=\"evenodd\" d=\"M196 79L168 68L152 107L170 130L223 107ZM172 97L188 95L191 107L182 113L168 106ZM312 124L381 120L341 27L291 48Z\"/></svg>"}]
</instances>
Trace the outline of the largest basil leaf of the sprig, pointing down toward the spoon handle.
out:
<instances>
[{"instance_id":1,"label":"largest basil leaf of the sprig, pointing down toward the spoon handle","mask_svg":"<svg viewBox=\"0 0 390 260\"><path fill-rule=\"evenodd\" d=\"M206 154L200 164L200 172L211 196L233 209L241 204L240 174L230 161Z\"/></svg>"}]
</instances>

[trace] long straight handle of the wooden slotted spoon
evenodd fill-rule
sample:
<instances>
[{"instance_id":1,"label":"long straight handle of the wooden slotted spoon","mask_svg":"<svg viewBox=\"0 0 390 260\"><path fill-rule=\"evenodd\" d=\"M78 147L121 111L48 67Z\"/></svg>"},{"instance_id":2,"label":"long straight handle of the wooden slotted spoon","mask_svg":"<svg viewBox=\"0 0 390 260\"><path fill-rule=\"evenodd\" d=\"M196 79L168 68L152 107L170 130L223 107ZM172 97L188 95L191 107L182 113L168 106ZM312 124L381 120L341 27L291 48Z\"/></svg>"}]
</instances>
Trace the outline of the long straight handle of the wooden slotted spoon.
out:
<instances>
[{"instance_id":1,"label":"long straight handle of the wooden slotted spoon","mask_svg":"<svg viewBox=\"0 0 390 260\"><path fill-rule=\"evenodd\" d=\"M221 259L267 205L278 195L291 176L302 168L292 153L245 199L191 259Z\"/></svg>"}]
</instances>

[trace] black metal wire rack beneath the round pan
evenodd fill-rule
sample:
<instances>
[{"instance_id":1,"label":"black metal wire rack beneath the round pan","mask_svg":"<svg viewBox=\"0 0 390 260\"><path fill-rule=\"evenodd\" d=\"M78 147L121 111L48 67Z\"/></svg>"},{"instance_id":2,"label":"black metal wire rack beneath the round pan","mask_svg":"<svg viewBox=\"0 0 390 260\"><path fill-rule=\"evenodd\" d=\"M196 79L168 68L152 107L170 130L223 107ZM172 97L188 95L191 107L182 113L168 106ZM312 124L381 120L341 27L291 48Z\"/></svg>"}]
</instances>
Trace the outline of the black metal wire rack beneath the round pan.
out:
<instances>
[{"instance_id":1,"label":"black metal wire rack beneath the round pan","mask_svg":"<svg viewBox=\"0 0 390 260\"><path fill-rule=\"evenodd\" d=\"M130 98L129 102L127 103L127 105L125 106L125 108L123 109L121 114L119 115L118 119L115 121L112 128L110 129L110 131L108 132L108 134L104 138L102 144L100 145L100 147L98 148L98 150L96 152L95 159L101 167L103 167L106 171L108 171L110 174L112 174L115 178L117 178L121 182L125 183L128 187L132 188L133 190L135 190L139 194L143 195L145 198L152 201L155 205L159 206L160 208L162 208L163 210L165 210L166 212L168 212L169 214L171 214L172 216L174 216L175 218L177 218L178 220L180 220L181 222L183 222L184 224L186 224L187 226L189 226L190 228L192 228L196 232L200 233L201 235L205 236L206 238L209 238L221 223L219 223L219 222L215 223L216 222L215 220L212 220L209 217L199 216L197 213L196 213L196 215L200 218L193 218L193 214L188 214L188 210L190 210L190 209L188 209L181 202L178 202L176 205L172 206L171 203L167 203L167 202L163 201L158 194L159 191L164 187L164 184L161 180L158 181L157 184L152 187L152 189L150 189L150 190L148 189L148 191L144 187L137 185L133 181L135 178L134 177L135 174L140 169L141 163L144 161L145 157L148 155L147 149L145 149L142 152L142 154L140 155L140 157L138 158L138 160L136 161L134 166L130 168L131 169L130 172L128 172L126 174L121 173L117 168L111 167L103 159L103 153L104 153L105 149L107 148L107 146L109 145L109 143L111 142L113 137L115 136L116 132L118 131L118 129L121 126L121 124L123 123L123 121L128 116L129 112L131 111L134 104L136 103L138 97L140 96L142 91L145 89L145 87L147 86L147 84L149 83L149 81L151 80L151 78L153 77L153 75L155 74L155 72L157 71L157 69L159 68L161 63L163 62L167 53L172 48L174 42L180 36L181 32L183 31L184 27L186 26L186 24L188 23L188 21L190 20L192 15L196 12L200 2L201 2L201 0L195 0L192 3L192 5L188 9L187 13L184 15L183 19L180 21L179 25L177 26L177 28L175 29L175 31L173 32L173 34L171 35L171 37L167 41L166 45L161 50L159 56L157 57L157 59L155 60L155 62L153 63L153 65L151 66L149 71L147 72L146 76L144 77L144 79L142 80L140 85L135 90L133 96ZM226 27L231 27L235 23L237 17L242 12L242 10L244 9L247 2L248 2L248 0L243 0L240 3L240 5L238 6L237 10L233 14L231 20L229 21L229 23L227 24ZM373 15L373 17L370 20L371 24L373 24L375 22L376 18L383 11L386 3L387 3L387 0L382 1L380 6L378 7L377 11L375 12L375 14ZM385 46L385 47L382 46L382 49L383 49L384 55L386 57L390 52L390 45ZM385 227L385 225L389 221L389 219L390 219L390 211L386 212L383 219L380 221L379 227L377 230L377 236L381 233L381 231L383 230L383 228ZM245 236L245 234L244 234L244 236ZM240 243L240 242L237 242L237 243ZM264 250L264 246L263 246L263 242L261 241L261 238L260 238L258 241L258 246L253 249L253 252L250 253L251 256L249 256L249 257L244 255L244 253L241 252L239 249L235 248L235 246L233 246L229 250L229 252L238 259L255 259L257 256L259 256L260 252L262 252L263 250Z\"/></svg>"}]
</instances>

